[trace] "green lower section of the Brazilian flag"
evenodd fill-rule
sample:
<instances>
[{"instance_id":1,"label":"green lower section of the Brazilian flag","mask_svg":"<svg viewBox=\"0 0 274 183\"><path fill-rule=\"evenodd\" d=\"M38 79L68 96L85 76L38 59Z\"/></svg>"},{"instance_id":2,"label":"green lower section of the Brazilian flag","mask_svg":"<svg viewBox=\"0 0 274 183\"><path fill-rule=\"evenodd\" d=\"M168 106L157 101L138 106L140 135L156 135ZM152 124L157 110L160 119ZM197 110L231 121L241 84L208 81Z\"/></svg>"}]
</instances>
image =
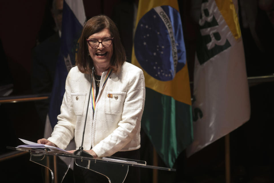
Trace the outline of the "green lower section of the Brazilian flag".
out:
<instances>
[{"instance_id":1,"label":"green lower section of the Brazilian flag","mask_svg":"<svg viewBox=\"0 0 274 183\"><path fill-rule=\"evenodd\" d=\"M192 142L191 106L146 87L142 128L170 168Z\"/></svg>"}]
</instances>

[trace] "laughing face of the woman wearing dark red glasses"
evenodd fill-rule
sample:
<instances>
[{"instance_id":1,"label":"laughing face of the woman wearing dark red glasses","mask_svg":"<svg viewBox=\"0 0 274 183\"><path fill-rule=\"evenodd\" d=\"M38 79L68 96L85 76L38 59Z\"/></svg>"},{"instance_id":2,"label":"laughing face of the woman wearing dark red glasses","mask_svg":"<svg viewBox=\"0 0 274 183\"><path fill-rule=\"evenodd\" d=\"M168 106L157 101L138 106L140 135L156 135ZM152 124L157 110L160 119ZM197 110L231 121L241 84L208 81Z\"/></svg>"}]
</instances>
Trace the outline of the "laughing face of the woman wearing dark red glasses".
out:
<instances>
[{"instance_id":1,"label":"laughing face of the woman wearing dark red glasses","mask_svg":"<svg viewBox=\"0 0 274 183\"><path fill-rule=\"evenodd\" d=\"M112 38L108 28L102 29L100 32L92 34L88 39L94 39L97 41L103 41L104 39ZM103 47L102 43L99 43L97 48L92 48L88 45L88 52L93 60L93 64L97 66L109 65L110 59L113 53L113 43L110 47Z\"/></svg>"}]
</instances>

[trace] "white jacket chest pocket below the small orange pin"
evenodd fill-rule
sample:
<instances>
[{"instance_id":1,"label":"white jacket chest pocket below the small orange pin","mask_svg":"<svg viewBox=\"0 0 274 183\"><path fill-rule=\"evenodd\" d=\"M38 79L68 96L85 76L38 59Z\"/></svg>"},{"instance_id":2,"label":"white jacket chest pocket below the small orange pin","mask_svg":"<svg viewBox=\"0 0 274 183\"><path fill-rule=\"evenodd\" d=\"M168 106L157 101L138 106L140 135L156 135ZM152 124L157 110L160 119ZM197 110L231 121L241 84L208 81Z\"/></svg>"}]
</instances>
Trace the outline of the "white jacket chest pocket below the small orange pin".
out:
<instances>
[{"instance_id":1,"label":"white jacket chest pocket below the small orange pin","mask_svg":"<svg viewBox=\"0 0 274 183\"><path fill-rule=\"evenodd\" d=\"M105 98L105 114L122 114L126 92L108 92Z\"/></svg>"}]
</instances>

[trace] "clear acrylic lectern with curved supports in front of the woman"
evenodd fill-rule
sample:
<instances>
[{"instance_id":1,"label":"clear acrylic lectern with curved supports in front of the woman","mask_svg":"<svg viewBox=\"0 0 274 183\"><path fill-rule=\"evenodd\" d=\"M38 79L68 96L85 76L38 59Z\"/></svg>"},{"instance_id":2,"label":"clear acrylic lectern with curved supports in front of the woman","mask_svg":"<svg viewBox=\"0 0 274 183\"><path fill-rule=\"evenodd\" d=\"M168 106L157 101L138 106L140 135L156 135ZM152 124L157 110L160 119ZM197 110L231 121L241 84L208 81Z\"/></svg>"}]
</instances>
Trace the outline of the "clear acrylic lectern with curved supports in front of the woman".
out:
<instances>
[{"instance_id":1,"label":"clear acrylic lectern with curved supports in front of the woman","mask_svg":"<svg viewBox=\"0 0 274 183\"><path fill-rule=\"evenodd\" d=\"M176 171L172 168L164 168L158 166L147 165L145 161L139 160L130 160L125 158L117 157L104 157L104 158L90 158L83 156L76 156L73 154L62 153L58 151L52 151L50 149L41 149L41 148L14 148L7 147L8 149L19 150L30 152L30 161L45 166L51 172L51 182L53 183L57 177L57 174L54 170L58 167L54 163L54 159L59 156L61 159L66 159L66 162L75 162L76 166L81 166L83 168L89 169L90 171L97 172L104 175L110 183L122 183L124 182L129 166L137 166L142 168L152 168L159 170L167 171ZM62 174L62 177L59 177L58 182L62 182L65 175L67 174L68 169L70 168L70 163L67 164L65 169L61 169L63 172L59 172L59 175Z\"/></svg>"}]
</instances>

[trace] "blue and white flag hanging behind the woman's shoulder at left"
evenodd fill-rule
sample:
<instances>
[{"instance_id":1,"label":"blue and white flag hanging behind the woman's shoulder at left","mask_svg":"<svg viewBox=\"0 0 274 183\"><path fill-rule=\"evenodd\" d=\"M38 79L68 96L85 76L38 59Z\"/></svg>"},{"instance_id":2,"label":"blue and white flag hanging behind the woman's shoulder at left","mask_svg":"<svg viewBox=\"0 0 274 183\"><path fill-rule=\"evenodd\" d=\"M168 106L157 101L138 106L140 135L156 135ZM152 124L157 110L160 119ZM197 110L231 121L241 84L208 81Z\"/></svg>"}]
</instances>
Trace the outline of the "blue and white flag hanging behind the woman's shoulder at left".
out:
<instances>
[{"instance_id":1,"label":"blue and white flag hanging behind the woman's shoulder at left","mask_svg":"<svg viewBox=\"0 0 274 183\"><path fill-rule=\"evenodd\" d=\"M52 128L57 124L57 116L60 114L60 107L65 93L66 78L69 70L75 65L78 39L85 20L86 16L82 1L64 1L61 47L49 105L49 121Z\"/></svg>"}]
</instances>

